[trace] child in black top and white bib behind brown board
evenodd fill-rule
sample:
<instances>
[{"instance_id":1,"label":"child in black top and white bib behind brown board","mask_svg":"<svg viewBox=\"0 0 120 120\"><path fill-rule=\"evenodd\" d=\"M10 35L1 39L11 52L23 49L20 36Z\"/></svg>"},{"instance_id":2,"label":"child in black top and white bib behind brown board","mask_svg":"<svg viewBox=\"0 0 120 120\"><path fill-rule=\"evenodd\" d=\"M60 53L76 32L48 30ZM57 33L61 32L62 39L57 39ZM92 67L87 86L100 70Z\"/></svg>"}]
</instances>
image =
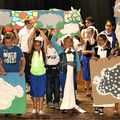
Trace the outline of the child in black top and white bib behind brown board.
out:
<instances>
[{"instance_id":1,"label":"child in black top and white bib behind brown board","mask_svg":"<svg viewBox=\"0 0 120 120\"><path fill-rule=\"evenodd\" d=\"M94 59L97 61L98 58L107 58L110 55L111 52L111 47L107 39L107 36L103 33L98 35L97 39L97 46L95 46L95 54L94 54ZM99 115L104 115L104 105L93 105L95 107L95 113L99 113Z\"/></svg>"}]
</instances>

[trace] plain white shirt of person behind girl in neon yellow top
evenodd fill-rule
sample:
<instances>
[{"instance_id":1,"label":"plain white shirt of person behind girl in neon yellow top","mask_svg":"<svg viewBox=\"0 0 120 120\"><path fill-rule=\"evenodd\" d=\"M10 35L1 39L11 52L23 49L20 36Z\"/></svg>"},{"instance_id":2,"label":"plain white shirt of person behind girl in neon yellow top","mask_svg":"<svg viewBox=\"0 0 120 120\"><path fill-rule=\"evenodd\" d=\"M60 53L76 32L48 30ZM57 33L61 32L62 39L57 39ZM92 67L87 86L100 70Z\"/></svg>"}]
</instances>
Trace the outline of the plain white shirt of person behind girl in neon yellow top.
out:
<instances>
[{"instance_id":1,"label":"plain white shirt of person behind girl in neon yellow top","mask_svg":"<svg viewBox=\"0 0 120 120\"><path fill-rule=\"evenodd\" d=\"M28 38L30 36L30 34L32 33L32 31L34 30L34 28L32 28L31 30L28 30L26 28L26 26L24 28L22 28L18 35L19 35L19 43L21 46L21 49L23 52L29 52L29 48L28 48Z\"/></svg>"}]
</instances>

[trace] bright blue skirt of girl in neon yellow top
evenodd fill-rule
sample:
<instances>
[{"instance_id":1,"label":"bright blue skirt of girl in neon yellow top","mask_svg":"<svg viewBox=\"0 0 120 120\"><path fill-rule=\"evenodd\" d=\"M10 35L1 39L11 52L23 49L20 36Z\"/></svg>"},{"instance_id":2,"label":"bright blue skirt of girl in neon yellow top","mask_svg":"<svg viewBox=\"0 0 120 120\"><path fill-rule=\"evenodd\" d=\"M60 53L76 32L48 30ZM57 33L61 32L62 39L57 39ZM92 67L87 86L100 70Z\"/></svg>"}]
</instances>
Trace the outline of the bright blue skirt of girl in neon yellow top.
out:
<instances>
[{"instance_id":1,"label":"bright blue skirt of girl in neon yellow top","mask_svg":"<svg viewBox=\"0 0 120 120\"><path fill-rule=\"evenodd\" d=\"M46 92L46 74L36 76L30 74L30 95L32 97L44 97Z\"/></svg>"}]
</instances>

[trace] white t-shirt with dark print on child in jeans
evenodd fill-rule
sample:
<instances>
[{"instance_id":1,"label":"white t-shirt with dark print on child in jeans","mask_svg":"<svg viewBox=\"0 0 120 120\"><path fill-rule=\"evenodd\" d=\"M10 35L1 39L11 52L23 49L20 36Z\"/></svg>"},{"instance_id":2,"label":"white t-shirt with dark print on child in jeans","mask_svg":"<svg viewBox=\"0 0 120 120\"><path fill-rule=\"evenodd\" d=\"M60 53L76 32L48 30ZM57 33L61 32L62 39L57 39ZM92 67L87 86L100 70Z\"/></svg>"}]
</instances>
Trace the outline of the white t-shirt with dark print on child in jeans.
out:
<instances>
[{"instance_id":1,"label":"white t-shirt with dark print on child in jeans","mask_svg":"<svg viewBox=\"0 0 120 120\"><path fill-rule=\"evenodd\" d=\"M57 51L55 50L55 48L50 48L49 46L47 47L47 65L57 65L60 61L60 57L57 53Z\"/></svg>"}]
</instances>

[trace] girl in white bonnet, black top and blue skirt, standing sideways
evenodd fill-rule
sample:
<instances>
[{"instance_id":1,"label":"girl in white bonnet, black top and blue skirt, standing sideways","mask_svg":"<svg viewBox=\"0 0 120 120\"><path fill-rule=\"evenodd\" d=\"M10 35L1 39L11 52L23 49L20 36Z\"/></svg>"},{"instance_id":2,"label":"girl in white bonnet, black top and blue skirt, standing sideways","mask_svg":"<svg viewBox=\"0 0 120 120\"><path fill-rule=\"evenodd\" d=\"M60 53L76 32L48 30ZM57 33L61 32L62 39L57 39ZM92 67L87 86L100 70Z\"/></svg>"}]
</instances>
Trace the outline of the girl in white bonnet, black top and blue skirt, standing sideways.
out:
<instances>
[{"instance_id":1,"label":"girl in white bonnet, black top and blue skirt, standing sideways","mask_svg":"<svg viewBox=\"0 0 120 120\"><path fill-rule=\"evenodd\" d=\"M91 78L90 78L90 65L89 65L89 61L90 58L92 56L92 54L94 53L94 51L92 50L97 42L96 42L96 29L94 26L90 26L87 28L86 31L86 42L84 43L83 46L83 79L85 80L85 84L86 84L86 96L87 97L91 97L90 94L90 83L91 83Z\"/></svg>"}]
</instances>

